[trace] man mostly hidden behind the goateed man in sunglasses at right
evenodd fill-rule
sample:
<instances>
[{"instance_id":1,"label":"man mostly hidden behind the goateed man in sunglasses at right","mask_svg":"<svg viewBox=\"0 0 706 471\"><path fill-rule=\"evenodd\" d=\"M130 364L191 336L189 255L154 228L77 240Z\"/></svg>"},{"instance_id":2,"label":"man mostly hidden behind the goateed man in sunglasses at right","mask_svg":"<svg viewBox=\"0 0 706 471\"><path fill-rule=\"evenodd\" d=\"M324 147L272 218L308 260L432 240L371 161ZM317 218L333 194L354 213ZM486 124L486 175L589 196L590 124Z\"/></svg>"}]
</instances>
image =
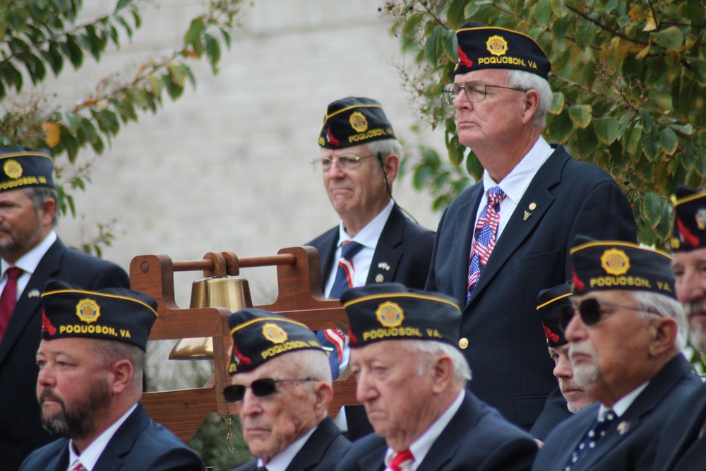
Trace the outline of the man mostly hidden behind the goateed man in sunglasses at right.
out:
<instances>
[{"instance_id":1,"label":"man mostly hidden behind the goateed man in sunglasses at right","mask_svg":"<svg viewBox=\"0 0 706 471\"><path fill-rule=\"evenodd\" d=\"M586 390L579 386L573 376L573 368L569 359L569 345L563 330L559 327L559 317L562 311L573 309L570 301L571 292L570 283L562 283L540 291L537 297L537 314L542 319L549 357L554 360L554 376L559 382L559 390L563 396L557 400L561 401L559 403L561 407L566 407L570 414L575 414L590 406L594 401L586 394ZM547 400L544 407L555 406ZM570 414L566 417L571 417ZM549 431L561 422L559 419L544 424L542 423L544 420L549 420L549 415L539 415L539 419L534 422L534 427L530 430L530 435L540 441L544 441Z\"/></svg>"}]
</instances>

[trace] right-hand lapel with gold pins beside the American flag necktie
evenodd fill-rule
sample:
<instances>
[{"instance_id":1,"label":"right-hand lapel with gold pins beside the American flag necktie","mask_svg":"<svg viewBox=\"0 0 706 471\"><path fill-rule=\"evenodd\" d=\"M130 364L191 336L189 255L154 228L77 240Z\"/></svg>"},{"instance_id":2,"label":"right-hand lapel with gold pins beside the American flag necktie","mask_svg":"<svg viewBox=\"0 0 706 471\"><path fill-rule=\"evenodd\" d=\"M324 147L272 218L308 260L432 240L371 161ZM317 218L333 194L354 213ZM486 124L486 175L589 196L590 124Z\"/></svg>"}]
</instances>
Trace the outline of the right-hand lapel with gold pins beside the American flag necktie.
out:
<instances>
[{"instance_id":1,"label":"right-hand lapel with gold pins beside the American flag necktie","mask_svg":"<svg viewBox=\"0 0 706 471\"><path fill-rule=\"evenodd\" d=\"M510 261L515 251L532 234L534 227L537 227L542 221L546 211L554 203L554 195L549 190L561 181L561 169L569 158L566 154L555 152L549 156L549 159L534 175L530 186L527 187L520 203L517 203L513 215L510 216L508 224L505 225L503 233L488 259L488 264L481 273L478 284L473 290L470 304L473 299L479 297L498 271ZM530 208L532 209L530 210ZM530 213L530 216L525 217L525 211Z\"/></svg>"}]
</instances>

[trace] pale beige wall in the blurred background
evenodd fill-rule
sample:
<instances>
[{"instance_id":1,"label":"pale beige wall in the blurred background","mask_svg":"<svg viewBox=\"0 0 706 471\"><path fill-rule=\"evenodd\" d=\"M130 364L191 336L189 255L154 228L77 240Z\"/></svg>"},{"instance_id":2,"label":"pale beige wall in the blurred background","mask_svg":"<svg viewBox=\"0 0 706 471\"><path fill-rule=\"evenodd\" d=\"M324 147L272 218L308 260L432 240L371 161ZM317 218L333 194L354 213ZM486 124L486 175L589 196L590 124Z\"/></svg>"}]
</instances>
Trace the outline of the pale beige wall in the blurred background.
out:
<instances>
[{"instance_id":1,"label":"pale beige wall in the blurred background","mask_svg":"<svg viewBox=\"0 0 706 471\"><path fill-rule=\"evenodd\" d=\"M92 184L76 194L79 217L59 223L68 244L95 234L98 222L117 218L112 247L104 258L128 269L138 254L167 254L174 260L201 258L208 251L241 257L275 254L298 246L336 225L321 176L309 162L325 107L348 95L381 101L397 136L415 141L416 121L394 64L402 61L381 0L256 0L223 52L220 73L196 64L198 88L167 97L158 114L142 114L124 126L92 166ZM90 4L90 5L88 5ZM99 14L114 1L87 2ZM166 52L198 11L198 0L155 1L143 12L144 26L132 42L92 59L80 73L66 71L49 81L59 102L90 93L98 78L133 75L137 64ZM426 136L441 148L438 136ZM92 159L84 153L80 160ZM431 198L412 190L410 178L395 185L402 207L436 228ZM275 296L274 268L243 270L256 304ZM186 306L198 273L179 274L177 301Z\"/></svg>"}]
</instances>

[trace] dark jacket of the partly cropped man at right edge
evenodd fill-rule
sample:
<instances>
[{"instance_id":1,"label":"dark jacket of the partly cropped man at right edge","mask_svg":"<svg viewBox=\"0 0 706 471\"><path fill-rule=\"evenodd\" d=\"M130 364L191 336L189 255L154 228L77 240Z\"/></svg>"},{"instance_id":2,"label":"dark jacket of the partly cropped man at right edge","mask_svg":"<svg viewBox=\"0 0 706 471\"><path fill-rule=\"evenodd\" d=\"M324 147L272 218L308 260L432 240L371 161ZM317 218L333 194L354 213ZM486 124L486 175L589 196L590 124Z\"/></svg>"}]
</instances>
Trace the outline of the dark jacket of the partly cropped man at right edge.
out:
<instances>
[{"instance_id":1,"label":"dark jacket of the partly cropped man at right edge","mask_svg":"<svg viewBox=\"0 0 706 471\"><path fill-rule=\"evenodd\" d=\"M705 471L706 439L698 439L706 419L706 385L672 412L655 443L654 471Z\"/></svg>"}]
</instances>

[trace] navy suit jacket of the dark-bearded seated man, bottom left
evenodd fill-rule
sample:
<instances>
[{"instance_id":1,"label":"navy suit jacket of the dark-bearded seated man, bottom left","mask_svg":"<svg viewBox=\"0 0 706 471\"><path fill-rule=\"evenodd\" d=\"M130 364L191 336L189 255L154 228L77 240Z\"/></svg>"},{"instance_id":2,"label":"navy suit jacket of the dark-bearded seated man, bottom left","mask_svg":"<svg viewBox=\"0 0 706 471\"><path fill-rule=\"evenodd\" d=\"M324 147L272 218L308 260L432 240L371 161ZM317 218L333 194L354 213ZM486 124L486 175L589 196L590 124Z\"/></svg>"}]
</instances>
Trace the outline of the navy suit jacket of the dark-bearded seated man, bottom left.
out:
<instances>
[{"instance_id":1,"label":"navy suit jacket of the dark-bearded seated man, bottom left","mask_svg":"<svg viewBox=\"0 0 706 471\"><path fill-rule=\"evenodd\" d=\"M27 457L22 471L66 471L68 439L43 446ZM203 461L184 442L152 422L142 405L128 416L110 439L95 471L203 471Z\"/></svg>"}]
</instances>

